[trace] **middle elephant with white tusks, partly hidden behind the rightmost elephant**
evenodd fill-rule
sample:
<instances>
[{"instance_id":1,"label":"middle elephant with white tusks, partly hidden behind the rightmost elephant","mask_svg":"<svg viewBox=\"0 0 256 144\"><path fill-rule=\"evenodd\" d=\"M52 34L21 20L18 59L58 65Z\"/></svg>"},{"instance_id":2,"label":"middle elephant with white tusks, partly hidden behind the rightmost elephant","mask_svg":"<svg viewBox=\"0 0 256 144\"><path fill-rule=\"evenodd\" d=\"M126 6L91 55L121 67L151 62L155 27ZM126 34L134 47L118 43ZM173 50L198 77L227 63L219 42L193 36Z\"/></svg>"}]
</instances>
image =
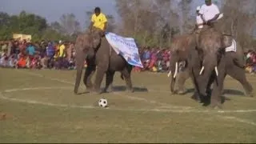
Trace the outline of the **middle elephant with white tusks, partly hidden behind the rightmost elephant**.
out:
<instances>
[{"instance_id":1,"label":"middle elephant with white tusks, partly hidden behind the rightmost elephant","mask_svg":"<svg viewBox=\"0 0 256 144\"><path fill-rule=\"evenodd\" d=\"M170 91L175 94L174 85L178 84L178 94L185 94L186 89L184 84L188 78L191 78L194 84L194 94L191 98L201 102L202 97L199 95L200 86L198 83L199 71L201 69L201 62L198 54L197 47L197 34L198 31L194 30L191 34L186 34L174 38L170 46ZM182 64L181 64L182 63ZM177 78L177 81L176 81ZM207 87L210 91L210 84Z\"/></svg>"}]
</instances>

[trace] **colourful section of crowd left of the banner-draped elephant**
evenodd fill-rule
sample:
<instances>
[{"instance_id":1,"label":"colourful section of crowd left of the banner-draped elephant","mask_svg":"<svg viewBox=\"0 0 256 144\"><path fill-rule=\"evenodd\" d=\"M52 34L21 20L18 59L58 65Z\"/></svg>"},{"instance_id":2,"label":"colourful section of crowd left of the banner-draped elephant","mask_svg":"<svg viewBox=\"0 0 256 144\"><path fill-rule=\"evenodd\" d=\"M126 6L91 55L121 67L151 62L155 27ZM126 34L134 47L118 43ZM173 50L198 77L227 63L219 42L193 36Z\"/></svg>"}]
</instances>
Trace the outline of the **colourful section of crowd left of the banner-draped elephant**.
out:
<instances>
[{"instance_id":1,"label":"colourful section of crowd left of the banner-draped elephant","mask_svg":"<svg viewBox=\"0 0 256 144\"><path fill-rule=\"evenodd\" d=\"M1 42L0 66L29 69L74 69L73 42Z\"/></svg>"}]
</instances>

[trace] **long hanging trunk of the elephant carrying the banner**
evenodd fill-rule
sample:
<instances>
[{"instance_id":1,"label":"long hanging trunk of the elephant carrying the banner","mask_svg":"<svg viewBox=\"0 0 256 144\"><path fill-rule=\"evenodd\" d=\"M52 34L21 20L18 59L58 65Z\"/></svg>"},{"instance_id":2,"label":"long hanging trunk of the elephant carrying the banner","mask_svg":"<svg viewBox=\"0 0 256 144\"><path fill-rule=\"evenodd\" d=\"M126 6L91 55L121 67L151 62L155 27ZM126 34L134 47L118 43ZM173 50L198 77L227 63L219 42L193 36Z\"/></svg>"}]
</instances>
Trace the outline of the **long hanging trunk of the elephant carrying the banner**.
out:
<instances>
[{"instance_id":1,"label":"long hanging trunk of the elephant carrying the banner","mask_svg":"<svg viewBox=\"0 0 256 144\"><path fill-rule=\"evenodd\" d=\"M84 54L82 52L76 53L76 68L77 68L77 74L75 78L75 84L74 84L74 94L78 94L78 87L80 85L81 77L82 77L82 68L84 66L84 62L86 60L87 54Z\"/></svg>"}]
</instances>

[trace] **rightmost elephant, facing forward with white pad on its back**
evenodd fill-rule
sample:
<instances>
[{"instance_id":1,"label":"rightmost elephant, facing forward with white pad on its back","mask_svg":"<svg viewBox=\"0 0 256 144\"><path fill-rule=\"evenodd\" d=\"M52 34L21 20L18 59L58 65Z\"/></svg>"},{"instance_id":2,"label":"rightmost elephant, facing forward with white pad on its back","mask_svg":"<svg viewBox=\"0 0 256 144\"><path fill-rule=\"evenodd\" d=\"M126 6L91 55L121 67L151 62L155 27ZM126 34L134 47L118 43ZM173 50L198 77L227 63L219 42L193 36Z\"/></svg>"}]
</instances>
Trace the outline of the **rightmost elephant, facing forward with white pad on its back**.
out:
<instances>
[{"instance_id":1,"label":"rightmost elephant, facing forward with white pad on its back","mask_svg":"<svg viewBox=\"0 0 256 144\"><path fill-rule=\"evenodd\" d=\"M230 43L226 41L229 39L232 38L218 32L214 26L206 26L198 37L197 50L202 62L198 77L198 90L200 95L206 96L206 88L210 83L213 83L210 96L210 105L213 107L222 107L220 96L226 74L238 80L246 90L247 95L253 96L253 88L247 81L243 69L242 47L237 43L236 52L226 52L226 47Z\"/></svg>"}]
</instances>

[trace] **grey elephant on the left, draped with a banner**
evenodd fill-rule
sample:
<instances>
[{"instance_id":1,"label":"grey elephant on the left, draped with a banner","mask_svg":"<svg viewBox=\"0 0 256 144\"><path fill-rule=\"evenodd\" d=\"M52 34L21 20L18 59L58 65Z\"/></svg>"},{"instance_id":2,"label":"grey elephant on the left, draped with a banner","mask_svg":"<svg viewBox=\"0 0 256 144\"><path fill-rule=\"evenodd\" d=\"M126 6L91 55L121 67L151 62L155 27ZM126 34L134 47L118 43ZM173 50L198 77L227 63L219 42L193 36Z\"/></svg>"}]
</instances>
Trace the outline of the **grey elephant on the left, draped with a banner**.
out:
<instances>
[{"instance_id":1,"label":"grey elephant on the left, draped with a banner","mask_svg":"<svg viewBox=\"0 0 256 144\"><path fill-rule=\"evenodd\" d=\"M86 72L83 82L86 90L94 91L97 94L106 92L109 88L113 89L112 83L115 71L121 72L121 78L126 81L127 90L133 92L130 74L132 66L126 62L121 55L118 55L107 42L102 30L93 28L86 34L79 35L76 43L76 66L77 74L75 79L74 94L78 94L78 86L82 77L84 62L87 62ZM97 70L96 70L97 68ZM91 78L96 71L94 84ZM106 86L100 90L102 79L106 74Z\"/></svg>"}]
</instances>

